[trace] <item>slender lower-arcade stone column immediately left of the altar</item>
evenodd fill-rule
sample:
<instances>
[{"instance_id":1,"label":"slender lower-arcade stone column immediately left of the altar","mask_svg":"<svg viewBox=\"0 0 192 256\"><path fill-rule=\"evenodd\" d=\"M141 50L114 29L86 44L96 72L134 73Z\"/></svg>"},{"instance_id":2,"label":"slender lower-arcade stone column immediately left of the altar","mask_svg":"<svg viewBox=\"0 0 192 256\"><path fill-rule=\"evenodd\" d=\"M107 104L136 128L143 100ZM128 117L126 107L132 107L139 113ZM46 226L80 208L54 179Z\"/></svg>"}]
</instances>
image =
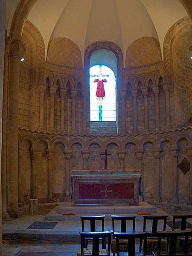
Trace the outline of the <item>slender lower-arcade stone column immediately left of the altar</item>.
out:
<instances>
[{"instance_id":1,"label":"slender lower-arcade stone column immediately left of the altar","mask_svg":"<svg viewBox=\"0 0 192 256\"><path fill-rule=\"evenodd\" d=\"M65 197L67 201L70 200L70 159L72 157L73 151L72 150L65 150L64 151L64 158L65 158L65 176L66 176L66 192Z\"/></svg>"}]
</instances>

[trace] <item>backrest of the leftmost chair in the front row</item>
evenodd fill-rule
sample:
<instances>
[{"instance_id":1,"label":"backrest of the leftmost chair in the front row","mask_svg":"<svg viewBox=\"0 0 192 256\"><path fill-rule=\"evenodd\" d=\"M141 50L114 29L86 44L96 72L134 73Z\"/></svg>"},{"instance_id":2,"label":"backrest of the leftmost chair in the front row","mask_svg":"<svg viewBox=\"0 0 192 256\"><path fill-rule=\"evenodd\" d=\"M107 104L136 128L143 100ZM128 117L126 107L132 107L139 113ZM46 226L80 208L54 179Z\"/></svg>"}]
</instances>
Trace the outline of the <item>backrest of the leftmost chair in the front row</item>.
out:
<instances>
[{"instance_id":1,"label":"backrest of the leftmost chair in the front row","mask_svg":"<svg viewBox=\"0 0 192 256\"><path fill-rule=\"evenodd\" d=\"M99 240L107 239L107 255L110 256L111 251L111 235L113 234L113 231L103 231L103 232L80 232L81 236L81 256L83 256L83 247L84 247L84 241L87 237L93 239L92 243L92 254L94 256L99 256ZM86 254L87 256L87 254Z\"/></svg>"}]
</instances>

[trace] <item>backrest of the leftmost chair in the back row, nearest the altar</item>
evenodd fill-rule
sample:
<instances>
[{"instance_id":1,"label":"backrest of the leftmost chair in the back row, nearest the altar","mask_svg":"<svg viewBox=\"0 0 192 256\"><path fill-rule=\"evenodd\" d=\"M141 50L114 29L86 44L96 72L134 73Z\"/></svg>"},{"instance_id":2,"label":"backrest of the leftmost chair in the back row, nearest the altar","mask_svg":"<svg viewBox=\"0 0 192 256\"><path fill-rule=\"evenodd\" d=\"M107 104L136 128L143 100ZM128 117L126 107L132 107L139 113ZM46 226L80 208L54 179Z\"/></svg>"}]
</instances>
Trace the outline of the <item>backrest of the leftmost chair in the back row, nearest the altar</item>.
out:
<instances>
[{"instance_id":1,"label":"backrest of the leftmost chair in the back row, nearest the altar","mask_svg":"<svg viewBox=\"0 0 192 256\"><path fill-rule=\"evenodd\" d=\"M82 215L81 216L81 228L84 232L84 221L90 221L90 232L96 232L96 221L102 221L102 230L104 231L104 218L105 215Z\"/></svg>"}]
</instances>

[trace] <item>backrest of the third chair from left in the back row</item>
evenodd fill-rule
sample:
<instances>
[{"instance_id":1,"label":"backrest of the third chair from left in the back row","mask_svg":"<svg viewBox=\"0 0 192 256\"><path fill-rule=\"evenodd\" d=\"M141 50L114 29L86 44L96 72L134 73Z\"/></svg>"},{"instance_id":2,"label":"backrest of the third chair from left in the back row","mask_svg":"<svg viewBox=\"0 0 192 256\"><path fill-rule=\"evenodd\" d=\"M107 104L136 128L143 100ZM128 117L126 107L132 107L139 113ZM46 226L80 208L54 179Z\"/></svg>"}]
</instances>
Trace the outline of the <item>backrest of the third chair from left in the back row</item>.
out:
<instances>
[{"instance_id":1,"label":"backrest of the third chair from left in the back row","mask_svg":"<svg viewBox=\"0 0 192 256\"><path fill-rule=\"evenodd\" d=\"M157 214L143 215L143 218L144 218L144 220L143 220L143 232L145 232L145 230L146 230L146 221L147 220L152 221L152 228L151 228L152 233L157 232L158 221L159 220L164 220L164 222L163 222L163 231L165 231L168 216L169 215L157 215Z\"/></svg>"}]
</instances>

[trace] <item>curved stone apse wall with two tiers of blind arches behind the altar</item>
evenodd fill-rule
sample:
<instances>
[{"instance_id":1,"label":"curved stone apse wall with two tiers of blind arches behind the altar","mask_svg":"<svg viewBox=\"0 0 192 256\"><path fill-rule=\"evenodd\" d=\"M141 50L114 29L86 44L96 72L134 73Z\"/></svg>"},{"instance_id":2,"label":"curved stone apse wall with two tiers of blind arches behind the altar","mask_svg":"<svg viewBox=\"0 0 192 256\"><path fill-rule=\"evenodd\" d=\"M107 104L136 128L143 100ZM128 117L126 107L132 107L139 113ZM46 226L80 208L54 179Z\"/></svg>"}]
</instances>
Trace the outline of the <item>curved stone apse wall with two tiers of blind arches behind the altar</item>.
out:
<instances>
[{"instance_id":1,"label":"curved stone apse wall with two tiers of blind arches behind the altar","mask_svg":"<svg viewBox=\"0 0 192 256\"><path fill-rule=\"evenodd\" d=\"M14 94L19 110L19 170L14 186L9 184L10 191L19 188L15 195L20 206L28 204L29 198L70 200L71 170L102 169L100 153L105 149L111 153L108 168L139 169L143 174L144 201L191 201L192 175L177 165L184 157L191 161L192 127L186 122L177 127L175 119L182 109L176 100L182 73L177 61L183 67L186 56L162 61L157 41L140 38L128 47L123 67L121 49L98 41L87 47L83 68L79 48L66 38L50 42L45 61L41 34L29 21L22 40L26 61L19 64L17 100ZM117 135L90 134L89 58L97 49L111 50L117 57ZM190 97L189 70L187 63L182 86ZM184 106L188 110L189 97ZM188 110L184 111L187 118ZM11 181L13 173L8 172ZM11 208L18 204L15 198Z\"/></svg>"}]
</instances>

